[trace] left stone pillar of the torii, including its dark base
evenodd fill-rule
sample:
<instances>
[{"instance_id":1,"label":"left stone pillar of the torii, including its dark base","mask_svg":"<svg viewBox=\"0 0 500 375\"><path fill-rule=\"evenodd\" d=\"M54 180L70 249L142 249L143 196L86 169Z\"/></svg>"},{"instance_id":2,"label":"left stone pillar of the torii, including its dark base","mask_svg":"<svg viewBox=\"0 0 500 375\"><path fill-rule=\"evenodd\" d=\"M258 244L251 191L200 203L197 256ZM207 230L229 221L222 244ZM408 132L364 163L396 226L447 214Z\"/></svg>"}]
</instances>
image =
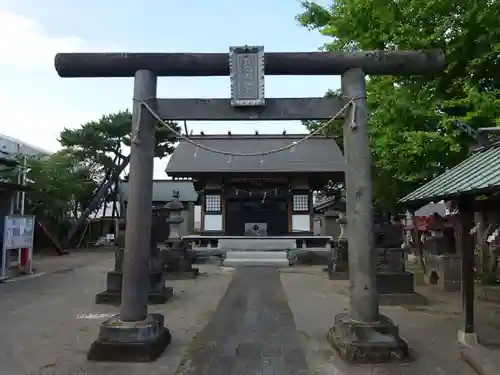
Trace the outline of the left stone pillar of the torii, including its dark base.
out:
<instances>
[{"instance_id":1,"label":"left stone pillar of the torii, including its dark base","mask_svg":"<svg viewBox=\"0 0 500 375\"><path fill-rule=\"evenodd\" d=\"M148 314L155 120L140 102L155 108L156 87L152 71L135 73L120 314L101 324L89 360L152 361L171 341L163 315Z\"/></svg>"}]
</instances>

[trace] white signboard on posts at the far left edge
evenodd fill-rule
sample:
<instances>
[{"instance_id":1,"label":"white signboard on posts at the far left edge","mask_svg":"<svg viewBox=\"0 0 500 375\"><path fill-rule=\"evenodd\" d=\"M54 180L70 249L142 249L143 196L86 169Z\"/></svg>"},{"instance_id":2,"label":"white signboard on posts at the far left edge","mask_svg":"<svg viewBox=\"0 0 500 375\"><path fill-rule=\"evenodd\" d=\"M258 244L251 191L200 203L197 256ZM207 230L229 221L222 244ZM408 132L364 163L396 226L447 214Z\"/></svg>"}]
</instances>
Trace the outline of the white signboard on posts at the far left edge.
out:
<instances>
[{"instance_id":1,"label":"white signboard on posts at the far left edge","mask_svg":"<svg viewBox=\"0 0 500 375\"><path fill-rule=\"evenodd\" d=\"M3 233L3 248L6 250L33 247L35 216L6 216Z\"/></svg>"}]
</instances>

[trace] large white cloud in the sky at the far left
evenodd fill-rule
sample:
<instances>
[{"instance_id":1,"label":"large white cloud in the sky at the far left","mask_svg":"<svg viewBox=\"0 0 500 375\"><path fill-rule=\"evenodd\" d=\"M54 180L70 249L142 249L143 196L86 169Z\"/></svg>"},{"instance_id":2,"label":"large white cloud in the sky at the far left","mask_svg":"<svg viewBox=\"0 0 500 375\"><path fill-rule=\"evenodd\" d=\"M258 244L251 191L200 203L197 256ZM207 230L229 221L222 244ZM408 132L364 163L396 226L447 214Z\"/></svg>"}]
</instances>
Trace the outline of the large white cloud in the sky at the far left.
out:
<instances>
[{"instance_id":1,"label":"large white cloud in the sky at the far left","mask_svg":"<svg viewBox=\"0 0 500 375\"><path fill-rule=\"evenodd\" d=\"M64 127L100 115L67 101L69 92L53 66L56 53L81 51L88 43L77 36L51 36L35 19L5 10L0 10L0 33L1 132L55 151Z\"/></svg>"}]
</instances>

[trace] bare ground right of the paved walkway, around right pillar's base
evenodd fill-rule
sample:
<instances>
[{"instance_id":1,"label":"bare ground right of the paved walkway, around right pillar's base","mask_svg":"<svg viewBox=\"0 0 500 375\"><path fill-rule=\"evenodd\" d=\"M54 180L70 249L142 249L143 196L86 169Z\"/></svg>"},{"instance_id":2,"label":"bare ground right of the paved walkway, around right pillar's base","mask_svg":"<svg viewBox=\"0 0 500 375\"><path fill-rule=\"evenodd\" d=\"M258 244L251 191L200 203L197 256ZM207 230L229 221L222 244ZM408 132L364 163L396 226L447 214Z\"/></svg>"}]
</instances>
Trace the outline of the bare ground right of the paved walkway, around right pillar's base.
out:
<instances>
[{"instance_id":1,"label":"bare ground right of the paved walkway, around right pillar's base","mask_svg":"<svg viewBox=\"0 0 500 375\"><path fill-rule=\"evenodd\" d=\"M444 293L433 287L417 288L430 300L428 306L381 307L381 313L400 326L401 336L412 350L411 361L347 368L326 342L325 334L334 316L348 311L348 282L330 281L322 273L320 267L281 270L281 281L297 330L303 335L313 374L476 374L461 358L457 343L457 330L462 327L460 293ZM500 343L500 306L478 303L476 322L480 338L491 347Z\"/></svg>"}]
</instances>

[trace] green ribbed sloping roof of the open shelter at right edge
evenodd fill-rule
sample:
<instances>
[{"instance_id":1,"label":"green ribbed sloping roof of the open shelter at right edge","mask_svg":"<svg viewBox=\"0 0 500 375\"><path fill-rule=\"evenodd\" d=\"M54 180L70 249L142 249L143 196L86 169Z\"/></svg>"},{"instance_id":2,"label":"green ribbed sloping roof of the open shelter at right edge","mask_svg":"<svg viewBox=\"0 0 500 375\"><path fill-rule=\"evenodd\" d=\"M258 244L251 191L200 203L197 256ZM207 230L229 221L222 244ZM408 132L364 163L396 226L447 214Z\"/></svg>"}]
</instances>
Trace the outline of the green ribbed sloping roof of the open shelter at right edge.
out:
<instances>
[{"instance_id":1,"label":"green ribbed sloping roof of the open shelter at right edge","mask_svg":"<svg viewBox=\"0 0 500 375\"><path fill-rule=\"evenodd\" d=\"M500 190L500 142L477 149L468 159L399 200L421 205Z\"/></svg>"}]
</instances>

